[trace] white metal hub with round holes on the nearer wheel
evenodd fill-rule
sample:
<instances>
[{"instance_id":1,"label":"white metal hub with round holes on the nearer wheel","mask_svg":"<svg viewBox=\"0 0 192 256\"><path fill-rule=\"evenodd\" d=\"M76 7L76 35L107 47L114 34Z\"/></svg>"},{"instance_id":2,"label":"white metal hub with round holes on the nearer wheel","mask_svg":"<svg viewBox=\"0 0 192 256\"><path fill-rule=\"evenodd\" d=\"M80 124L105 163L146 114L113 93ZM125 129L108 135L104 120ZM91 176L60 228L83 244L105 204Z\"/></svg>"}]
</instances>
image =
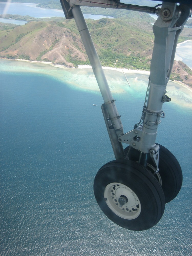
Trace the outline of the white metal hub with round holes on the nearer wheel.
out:
<instances>
[{"instance_id":1,"label":"white metal hub with round holes on the nearer wheel","mask_svg":"<svg viewBox=\"0 0 192 256\"><path fill-rule=\"evenodd\" d=\"M132 220L141 213L141 203L135 192L121 183L110 183L104 190L108 207L119 217Z\"/></svg>"}]
</instances>

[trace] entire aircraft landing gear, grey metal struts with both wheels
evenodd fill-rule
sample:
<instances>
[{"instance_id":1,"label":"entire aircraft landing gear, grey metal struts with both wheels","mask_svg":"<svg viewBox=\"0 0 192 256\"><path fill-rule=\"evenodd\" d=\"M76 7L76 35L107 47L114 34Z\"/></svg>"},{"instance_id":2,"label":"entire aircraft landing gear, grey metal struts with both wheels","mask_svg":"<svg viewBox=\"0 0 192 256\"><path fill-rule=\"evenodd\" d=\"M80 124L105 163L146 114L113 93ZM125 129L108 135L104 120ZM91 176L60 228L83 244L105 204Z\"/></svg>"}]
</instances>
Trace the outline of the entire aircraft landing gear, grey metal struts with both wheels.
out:
<instances>
[{"instance_id":1,"label":"entire aircraft landing gear, grey metal struts with both wheels","mask_svg":"<svg viewBox=\"0 0 192 256\"><path fill-rule=\"evenodd\" d=\"M184 24L191 16L189 0L163 1L155 7L121 3L119 0L60 0L66 18L74 18L98 82L104 104L102 112L115 155L95 176L95 198L113 222L130 230L153 227L164 213L165 203L173 200L182 186L182 170L175 156L155 143L157 127L173 66L176 45ZM175 2L179 2L177 5ZM156 13L150 77L142 117L134 129L123 132L101 63L91 39L80 5ZM122 143L129 144L123 149Z\"/></svg>"}]
</instances>

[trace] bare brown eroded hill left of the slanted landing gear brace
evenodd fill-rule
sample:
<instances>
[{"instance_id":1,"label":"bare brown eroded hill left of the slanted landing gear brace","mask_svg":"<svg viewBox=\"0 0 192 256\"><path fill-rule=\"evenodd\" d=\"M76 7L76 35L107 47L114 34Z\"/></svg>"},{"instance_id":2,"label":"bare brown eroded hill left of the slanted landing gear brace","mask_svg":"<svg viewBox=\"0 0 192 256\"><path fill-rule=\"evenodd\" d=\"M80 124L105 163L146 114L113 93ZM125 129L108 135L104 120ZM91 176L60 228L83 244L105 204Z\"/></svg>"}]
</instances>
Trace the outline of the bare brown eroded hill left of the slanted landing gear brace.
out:
<instances>
[{"instance_id":1,"label":"bare brown eroded hill left of the slanted landing gear brace","mask_svg":"<svg viewBox=\"0 0 192 256\"><path fill-rule=\"evenodd\" d=\"M1 57L12 56L18 59L20 56L28 56L30 60L47 59L65 66L73 66L66 60L68 55L86 60L80 36L69 29L47 22L30 22L30 26L26 25L15 28L1 39L2 48L10 45L1 51ZM79 49L74 46L74 39L78 41Z\"/></svg>"}]
</instances>

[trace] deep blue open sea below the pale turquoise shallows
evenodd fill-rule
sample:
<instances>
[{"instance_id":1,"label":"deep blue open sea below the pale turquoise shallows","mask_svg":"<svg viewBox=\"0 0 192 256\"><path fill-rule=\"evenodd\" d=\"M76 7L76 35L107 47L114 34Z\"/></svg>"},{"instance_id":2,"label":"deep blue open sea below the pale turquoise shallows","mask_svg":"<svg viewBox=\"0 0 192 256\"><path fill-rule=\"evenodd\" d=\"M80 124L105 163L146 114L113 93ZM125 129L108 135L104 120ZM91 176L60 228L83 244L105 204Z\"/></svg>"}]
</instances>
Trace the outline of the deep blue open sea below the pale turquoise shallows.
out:
<instances>
[{"instance_id":1,"label":"deep blue open sea below the pale turquoise shallows","mask_svg":"<svg viewBox=\"0 0 192 256\"><path fill-rule=\"evenodd\" d=\"M157 136L183 169L179 195L155 227L129 231L93 194L95 174L114 159L100 94L40 74L0 76L0 255L191 255L191 109L165 103ZM115 99L133 129L144 98Z\"/></svg>"}]
</instances>

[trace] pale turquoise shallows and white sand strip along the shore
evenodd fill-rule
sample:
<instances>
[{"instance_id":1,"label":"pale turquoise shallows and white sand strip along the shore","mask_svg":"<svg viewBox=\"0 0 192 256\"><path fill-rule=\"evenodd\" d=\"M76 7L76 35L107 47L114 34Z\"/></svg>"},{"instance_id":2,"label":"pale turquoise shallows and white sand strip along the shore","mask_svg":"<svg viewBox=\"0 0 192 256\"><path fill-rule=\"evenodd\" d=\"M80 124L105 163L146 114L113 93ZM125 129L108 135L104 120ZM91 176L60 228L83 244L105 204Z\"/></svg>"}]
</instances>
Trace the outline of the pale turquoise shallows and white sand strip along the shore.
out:
<instances>
[{"instance_id":1,"label":"pale turquoise shallows and white sand strip along the shore","mask_svg":"<svg viewBox=\"0 0 192 256\"><path fill-rule=\"evenodd\" d=\"M3 61L1 61L3 60ZM67 68L62 65L54 65L52 62L29 61L29 60L10 60L0 58L0 71L15 73L35 73L50 76L65 86L70 86L74 90L81 90L100 94L100 90L95 79L91 66L80 65L78 68ZM25 62L25 64L24 64ZM115 95L137 94L137 97L144 97L148 84L149 71L119 69L103 67L109 88L114 97ZM131 87L129 87L124 73ZM167 94L172 102L180 106L192 108L192 88L179 81L169 81L167 84Z\"/></svg>"}]
</instances>

